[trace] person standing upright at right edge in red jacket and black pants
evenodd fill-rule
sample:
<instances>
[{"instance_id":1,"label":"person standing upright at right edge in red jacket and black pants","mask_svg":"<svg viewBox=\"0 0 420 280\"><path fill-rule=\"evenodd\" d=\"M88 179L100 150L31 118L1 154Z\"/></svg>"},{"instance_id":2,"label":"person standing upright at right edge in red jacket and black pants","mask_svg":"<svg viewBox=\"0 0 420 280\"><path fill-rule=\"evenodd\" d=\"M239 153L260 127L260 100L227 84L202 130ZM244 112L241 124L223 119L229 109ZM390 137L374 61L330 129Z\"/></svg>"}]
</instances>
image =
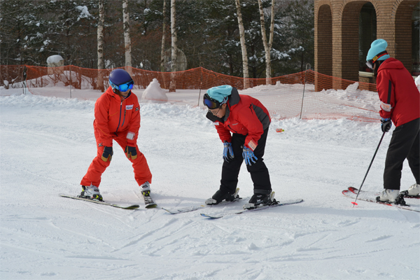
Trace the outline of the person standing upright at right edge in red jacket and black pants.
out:
<instances>
[{"instance_id":1,"label":"person standing upright at right edge in red jacket and black pants","mask_svg":"<svg viewBox=\"0 0 420 280\"><path fill-rule=\"evenodd\" d=\"M407 158L416 183L402 192L420 193L420 93L414 79L402 63L386 52L384 39L373 41L367 52L366 64L374 70L381 101L381 129L388 132L395 125L384 170L384 191L378 197L382 202L397 202L400 195L402 162Z\"/></svg>"}]
</instances>

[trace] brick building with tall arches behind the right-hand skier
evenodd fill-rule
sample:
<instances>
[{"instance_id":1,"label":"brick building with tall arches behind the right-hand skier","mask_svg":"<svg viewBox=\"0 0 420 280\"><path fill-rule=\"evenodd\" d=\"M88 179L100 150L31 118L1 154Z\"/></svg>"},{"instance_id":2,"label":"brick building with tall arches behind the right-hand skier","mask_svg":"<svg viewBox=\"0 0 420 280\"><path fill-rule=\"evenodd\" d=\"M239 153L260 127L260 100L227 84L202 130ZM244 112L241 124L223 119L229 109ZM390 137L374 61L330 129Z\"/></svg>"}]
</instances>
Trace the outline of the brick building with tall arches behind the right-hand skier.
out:
<instances>
[{"instance_id":1,"label":"brick building with tall arches behind the right-hand skier","mask_svg":"<svg viewBox=\"0 0 420 280\"><path fill-rule=\"evenodd\" d=\"M315 71L375 83L370 69L365 67L365 59L370 43L383 38L388 42L389 55L418 76L419 3L419 0L314 0ZM341 87L338 80L332 81L332 87Z\"/></svg>"}]
</instances>

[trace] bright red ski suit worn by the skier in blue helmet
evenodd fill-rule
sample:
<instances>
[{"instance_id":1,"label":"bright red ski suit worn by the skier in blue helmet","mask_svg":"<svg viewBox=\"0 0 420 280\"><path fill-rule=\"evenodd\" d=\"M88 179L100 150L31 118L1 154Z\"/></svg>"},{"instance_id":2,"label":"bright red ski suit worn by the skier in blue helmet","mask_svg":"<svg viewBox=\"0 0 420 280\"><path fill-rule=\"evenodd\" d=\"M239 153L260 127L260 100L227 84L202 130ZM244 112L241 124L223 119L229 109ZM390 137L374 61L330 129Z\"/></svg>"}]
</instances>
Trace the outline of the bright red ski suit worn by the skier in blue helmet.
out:
<instances>
[{"instance_id":1,"label":"bright red ski suit worn by the skier in blue helmet","mask_svg":"<svg viewBox=\"0 0 420 280\"><path fill-rule=\"evenodd\" d=\"M112 147L113 140L123 150L126 146L136 148L137 158L135 160L130 158L134 168L134 179L139 186L146 181L152 183L152 174L146 158L137 146L140 128L140 105L136 94L130 92L127 98L121 100L121 97L109 87L94 104L94 118L93 127L94 138L97 142L97 157L90 164L80 185L90 186L92 184L99 187L102 173L110 165L110 160L107 162L102 160L102 153L104 153L105 146ZM130 135L134 134L134 138L127 138L129 132L131 132Z\"/></svg>"}]
</instances>

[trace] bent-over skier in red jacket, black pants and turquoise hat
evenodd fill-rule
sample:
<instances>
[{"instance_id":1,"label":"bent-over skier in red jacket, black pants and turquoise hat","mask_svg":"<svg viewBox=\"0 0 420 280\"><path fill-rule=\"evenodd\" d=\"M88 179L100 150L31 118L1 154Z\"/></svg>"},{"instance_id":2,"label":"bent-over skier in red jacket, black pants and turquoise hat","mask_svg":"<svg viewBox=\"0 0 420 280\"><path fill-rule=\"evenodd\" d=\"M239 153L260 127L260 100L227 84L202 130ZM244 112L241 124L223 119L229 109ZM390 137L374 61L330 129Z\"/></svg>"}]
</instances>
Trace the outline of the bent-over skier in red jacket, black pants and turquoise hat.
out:
<instances>
[{"instance_id":1,"label":"bent-over skier in red jacket, black pants and turquoise hat","mask_svg":"<svg viewBox=\"0 0 420 280\"><path fill-rule=\"evenodd\" d=\"M206 204L239 199L238 175L244 160L254 185L254 195L244 209L276 203L262 159L271 123L265 106L258 99L239 94L230 85L211 87L203 102L209 109L207 118L214 122L224 145L221 186Z\"/></svg>"}]
</instances>

